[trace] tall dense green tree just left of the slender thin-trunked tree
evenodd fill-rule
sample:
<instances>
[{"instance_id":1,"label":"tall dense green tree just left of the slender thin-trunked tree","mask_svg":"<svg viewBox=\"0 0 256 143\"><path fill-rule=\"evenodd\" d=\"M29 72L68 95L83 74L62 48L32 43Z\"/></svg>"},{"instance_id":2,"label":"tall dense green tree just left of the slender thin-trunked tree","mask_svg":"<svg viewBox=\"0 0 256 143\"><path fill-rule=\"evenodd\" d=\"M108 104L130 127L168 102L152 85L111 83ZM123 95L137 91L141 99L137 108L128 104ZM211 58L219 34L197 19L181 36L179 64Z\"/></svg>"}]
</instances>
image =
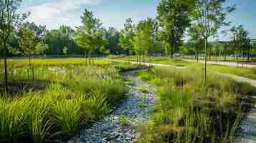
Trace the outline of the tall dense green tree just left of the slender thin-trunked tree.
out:
<instances>
[{"instance_id":1,"label":"tall dense green tree just left of the slender thin-trunked tree","mask_svg":"<svg viewBox=\"0 0 256 143\"><path fill-rule=\"evenodd\" d=\"M181 45L181 39L189 26L190 12L194 1L186 0L161 0L157 7L157 19L161 31L159 38L163 40L166 55L174 54L177 46Z\"/></svg>"}]
</instances>

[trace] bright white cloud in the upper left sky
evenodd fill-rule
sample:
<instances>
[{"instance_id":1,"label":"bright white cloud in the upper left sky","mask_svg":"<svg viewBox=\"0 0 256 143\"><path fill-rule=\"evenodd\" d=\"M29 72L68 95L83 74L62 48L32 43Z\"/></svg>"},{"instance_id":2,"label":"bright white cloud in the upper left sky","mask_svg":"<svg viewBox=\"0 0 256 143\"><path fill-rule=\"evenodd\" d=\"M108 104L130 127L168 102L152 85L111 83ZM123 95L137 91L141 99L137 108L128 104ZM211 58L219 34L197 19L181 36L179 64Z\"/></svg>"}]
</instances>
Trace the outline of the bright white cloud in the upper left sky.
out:
<instances>
[{"instance_id":1,"label":"bright white cloud in the upper left sky","mask_svg":"<svg viewBox=\"0 0 256 143\"><path fill-rule=\"evenodd\" d=\"M43 0L39 3L35 3L35 1L27 1L29 4L24 4L22 11L32 13L27 19L28 21L47 24L68 21L70 19L67 18L67 15L70 12L80 9L81 6L99 4L102 0Z\"/></svg>"}]
</instances>

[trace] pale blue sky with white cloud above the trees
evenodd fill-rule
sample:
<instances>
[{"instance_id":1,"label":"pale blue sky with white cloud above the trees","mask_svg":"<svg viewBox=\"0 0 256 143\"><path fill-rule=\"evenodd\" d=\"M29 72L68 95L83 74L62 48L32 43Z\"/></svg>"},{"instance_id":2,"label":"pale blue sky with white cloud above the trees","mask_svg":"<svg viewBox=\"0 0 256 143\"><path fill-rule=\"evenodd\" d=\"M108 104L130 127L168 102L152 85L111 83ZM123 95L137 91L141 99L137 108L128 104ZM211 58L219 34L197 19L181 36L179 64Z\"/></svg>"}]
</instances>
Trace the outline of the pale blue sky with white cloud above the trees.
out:
<instances>
[{"instance_id":1,"label":"pale blue sky with white cloud above the trees","mask_svg":"<svg viewBox=\"0 0 256 143\"><path fill-rule=\"evenodd\" d=\"M138 22L146 17L156 17L159 0L23 0L21 10L31 11L28 21L45 24L47 29L57 29L62 24L80 25L80 16L86 8L93 11L103 26L121 29L125 19ZM228 0L237 4L237 10L227 16L232 25L243 24L256 39L256 0ZM226 38L227 39L227 38Z\"/></svg>"}]
</instances>

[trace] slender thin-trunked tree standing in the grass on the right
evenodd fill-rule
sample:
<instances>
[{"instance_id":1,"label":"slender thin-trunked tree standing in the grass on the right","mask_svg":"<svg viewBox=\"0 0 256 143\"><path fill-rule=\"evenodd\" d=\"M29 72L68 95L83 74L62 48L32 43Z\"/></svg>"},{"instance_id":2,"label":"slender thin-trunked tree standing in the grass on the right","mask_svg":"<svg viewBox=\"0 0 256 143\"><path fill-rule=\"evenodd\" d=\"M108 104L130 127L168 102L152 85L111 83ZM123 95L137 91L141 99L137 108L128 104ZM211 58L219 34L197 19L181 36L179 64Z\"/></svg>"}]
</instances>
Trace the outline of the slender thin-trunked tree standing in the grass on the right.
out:
<instances>
[{"instance_id":1,"label":"slender thin-trunked tree standing in the grass on the right","mask_svg":"<svg viewBox=\"0 0 256 143\"><path fill-rule=\"evenodd\" d=\"M220 26L227 26L225 22L228 13L234 11L234 6L224 8L225 0L195 0L193 26L204 39L204 83L207 80L207 41L210 36L217 34Z\"/></svg>"}]
</instances>

